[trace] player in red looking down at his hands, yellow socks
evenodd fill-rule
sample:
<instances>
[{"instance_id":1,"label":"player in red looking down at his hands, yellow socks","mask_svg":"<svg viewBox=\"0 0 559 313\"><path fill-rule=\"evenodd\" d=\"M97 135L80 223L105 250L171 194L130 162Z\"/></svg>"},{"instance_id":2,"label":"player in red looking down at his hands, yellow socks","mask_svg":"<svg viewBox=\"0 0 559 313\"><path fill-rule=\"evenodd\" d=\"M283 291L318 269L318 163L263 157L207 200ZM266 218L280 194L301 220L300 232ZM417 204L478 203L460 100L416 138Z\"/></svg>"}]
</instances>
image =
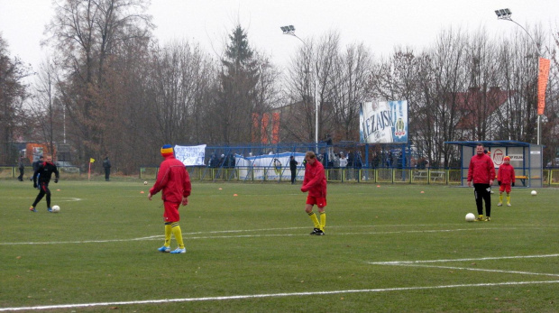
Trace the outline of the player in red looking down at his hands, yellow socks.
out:
<instances>
[{"instance_id":1,"label":"player in red looking down at his hands, yellow socks","mask_svg":"<svg viewBox=\"0 0 559 313\"><path fill-rule=\"evenodd\" d=\"M310 219L313 221L315 228L310 233L310 235L325 235L326 226L326 177L325 169L320 161L316 160L315 152L307 152L305 154L305 160L307 165L305 167L305 178L303 179L303 185L301 186L301 191L307 192L307 203L305 205L305 211L307 212ZM320 214L320 222L316 218L316 214L313 212L313 207L316 205L318 207L318 213Z\"/></svg>"}]
</instances>

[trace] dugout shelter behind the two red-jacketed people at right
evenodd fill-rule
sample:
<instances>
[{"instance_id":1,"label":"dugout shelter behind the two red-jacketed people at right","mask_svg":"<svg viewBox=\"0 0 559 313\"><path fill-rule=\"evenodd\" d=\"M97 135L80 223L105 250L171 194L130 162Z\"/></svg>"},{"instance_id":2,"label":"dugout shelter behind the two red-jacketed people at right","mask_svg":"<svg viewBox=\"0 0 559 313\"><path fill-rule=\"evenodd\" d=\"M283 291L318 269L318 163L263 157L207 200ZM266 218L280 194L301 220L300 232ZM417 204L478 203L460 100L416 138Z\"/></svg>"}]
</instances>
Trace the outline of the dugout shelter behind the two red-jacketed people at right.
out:
<instances>
[{"instance_id":1,"label":"dugout shelter behind the two red-jacketed people at right","mask_svg":"<svg viewBox=\"0 0 559 313\"><path fill-rule=\"evenodd\" d=\"M510 157L510 165L515 169L516 187L539 188L543 185L543 146L517 141L477 141L477 142L445 142L455 144L460 149L461 182L468 186L468 167L470 160L475 155L478 143L483 144L490 152L491 160L495 164L495 172L505 156ZM497 184L497 180L493 182Z\"/></svg>"}]
</instances>

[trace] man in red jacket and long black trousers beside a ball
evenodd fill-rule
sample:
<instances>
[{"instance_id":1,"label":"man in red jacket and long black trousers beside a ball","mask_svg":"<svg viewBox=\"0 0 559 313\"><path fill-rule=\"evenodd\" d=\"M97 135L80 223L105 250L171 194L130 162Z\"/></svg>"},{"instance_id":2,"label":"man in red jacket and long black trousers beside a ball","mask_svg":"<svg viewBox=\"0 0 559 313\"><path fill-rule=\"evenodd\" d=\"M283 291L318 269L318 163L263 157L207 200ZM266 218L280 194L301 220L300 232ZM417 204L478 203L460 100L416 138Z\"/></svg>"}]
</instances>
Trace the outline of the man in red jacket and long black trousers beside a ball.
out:
<instances>
[{"instance_id":1,"label":"man in red jacket and long black trousers beside a ball","mask_svg":"<svg viewBox=\"0 0 559 313\"><path fill-rule=\"evenodd\" d=\"M478 218L483 219L483 202L485 202L485 221L491 220L491 189L490 186L495 180L495 165L489 155L483 152L483 144L478 144L475 148L476 155L472 156L468 167L468 187L472 186L475 196L475 205L478 209Z\"/></svg>"}]
</instances>

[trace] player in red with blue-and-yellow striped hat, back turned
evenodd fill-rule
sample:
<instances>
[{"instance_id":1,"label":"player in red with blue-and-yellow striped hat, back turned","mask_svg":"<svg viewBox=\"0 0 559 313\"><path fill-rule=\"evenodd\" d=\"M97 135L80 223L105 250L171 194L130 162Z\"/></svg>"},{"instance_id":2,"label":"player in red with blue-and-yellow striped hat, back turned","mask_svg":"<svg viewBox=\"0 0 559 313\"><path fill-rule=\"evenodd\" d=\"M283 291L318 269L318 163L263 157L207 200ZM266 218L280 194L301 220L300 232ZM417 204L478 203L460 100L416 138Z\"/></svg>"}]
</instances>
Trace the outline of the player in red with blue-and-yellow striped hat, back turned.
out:
<instances>
[{"instance_id":1,"label":"player in red with blue-and-yellow striped hat, back turned","mask_svg":"<svg viewBox=\"0 0 559 313\"><path fill-rule=\"evenodd\" d=\"M161 162L157 180L153 187L150 189L148 199L160 190L161 199L163 199L163 207L165 207L165 244L158 250L162 253L186 253L187 249L182 241L182 232L179 226L179 206L188 205L188 196L192 189L190 184L190 177L184 164L175 159L173 147L170 144L165 144L161 147L161 156L165 158ZM170 251L170 235L175 236L175 240L179 247L176 250Z\"/></svg>"}]
</instances>

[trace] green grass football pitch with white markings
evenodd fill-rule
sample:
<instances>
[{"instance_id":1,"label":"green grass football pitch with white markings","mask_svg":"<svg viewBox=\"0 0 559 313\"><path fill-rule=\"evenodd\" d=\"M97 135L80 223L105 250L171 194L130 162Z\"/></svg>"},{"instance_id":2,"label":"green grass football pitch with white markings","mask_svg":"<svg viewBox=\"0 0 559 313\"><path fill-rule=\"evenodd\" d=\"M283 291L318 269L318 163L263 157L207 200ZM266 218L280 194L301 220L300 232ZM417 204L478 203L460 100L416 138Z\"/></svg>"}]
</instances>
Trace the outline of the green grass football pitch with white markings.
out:
<instances>
[{"instance_id":1,"label":"green grass football pitch with white markings","mask_svg":"<svg viewBox=\"0 0 559 313\"><path fill-rule=\"evenodd\" d=\"M0 311L559 310L558 189L496 192L491 222L467 223L472 189L331 183L311 236L299 185L196 182L173 255L151 183L60 180L50 214L0 180Z\"/></svg>"}]
</instances>

